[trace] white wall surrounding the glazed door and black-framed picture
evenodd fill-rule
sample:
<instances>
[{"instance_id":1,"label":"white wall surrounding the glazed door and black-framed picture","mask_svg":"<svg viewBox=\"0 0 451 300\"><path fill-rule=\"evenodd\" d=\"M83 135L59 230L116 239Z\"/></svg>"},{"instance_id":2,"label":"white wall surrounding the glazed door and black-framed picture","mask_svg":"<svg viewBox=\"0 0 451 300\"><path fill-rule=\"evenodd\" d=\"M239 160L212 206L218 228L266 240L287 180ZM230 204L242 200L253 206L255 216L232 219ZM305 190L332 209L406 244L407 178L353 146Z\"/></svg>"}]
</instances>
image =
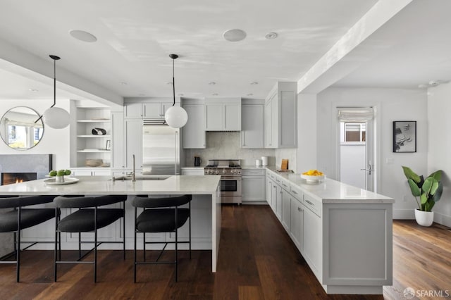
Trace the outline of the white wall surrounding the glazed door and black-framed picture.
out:
<instances>
[{"instance_id":1,"label":"white wall surrounding the glazed door and black-framed picture","mask_svg":"<svg viewBox=\"0 0 451 300\"><path fill-rule=\"evenodd\" d=\"M428 114L426 91L422 89L329 88L317 95L317 166L327 177L335 178L335 107L373 106L376 108L376 172L380 184L376 192L395 199L394 218L414 218L416 202L407 186L401 165L416 173L427 170ZM393 153L393 121L416 120L416 153ZM299 146L298 156L303 147Z\"/></svg>"}]
</instances>

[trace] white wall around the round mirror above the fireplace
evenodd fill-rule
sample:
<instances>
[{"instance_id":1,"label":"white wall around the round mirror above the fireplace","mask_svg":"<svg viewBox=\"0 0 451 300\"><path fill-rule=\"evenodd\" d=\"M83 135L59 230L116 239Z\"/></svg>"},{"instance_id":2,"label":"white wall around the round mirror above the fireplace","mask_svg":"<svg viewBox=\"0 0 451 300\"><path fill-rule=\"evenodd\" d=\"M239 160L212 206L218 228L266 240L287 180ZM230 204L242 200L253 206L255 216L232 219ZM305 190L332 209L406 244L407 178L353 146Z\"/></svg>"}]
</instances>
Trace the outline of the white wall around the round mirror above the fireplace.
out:
<instances>
[{"instance_id":1,"label":"white wall around the round mirror above the fireplace","mask_svg":"<svg viewBox=\"0 0 451 300\"><path fill-rule=\"evenodd\" d=\"M16 106L33 108L37 113L44 111L53 104L53 99L44 100L1 100L0 115ZM58 99L58 107L69 111L69 100ZM44 125L44 135L41 142L30 150L15 150L0 141L0 154L53 154L54 169L69 168L69 126L63 129L53 129Z\"/></svg>"}]
</instances>

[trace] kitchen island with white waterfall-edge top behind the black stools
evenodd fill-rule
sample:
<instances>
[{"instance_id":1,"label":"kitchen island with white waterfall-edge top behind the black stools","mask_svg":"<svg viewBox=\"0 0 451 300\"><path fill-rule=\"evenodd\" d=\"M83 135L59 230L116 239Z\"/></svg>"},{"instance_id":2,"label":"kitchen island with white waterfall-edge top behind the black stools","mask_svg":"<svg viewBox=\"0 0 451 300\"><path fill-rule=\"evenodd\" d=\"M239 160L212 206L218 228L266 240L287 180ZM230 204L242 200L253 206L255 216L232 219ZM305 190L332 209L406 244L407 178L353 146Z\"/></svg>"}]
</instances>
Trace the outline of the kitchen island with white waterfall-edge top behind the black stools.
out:
<instances>
[{"instance_id":1,"label":"kitchen island with white waterfall-edge top behind the black stools","mask_svg":"<svg viewBox=\"0 0 451 300\"><path fill-rule=\"evenodd\" d=\"M69 185L47 185L44 180L32 180L27 182L20 182L13 185L4 185L0 187L0 195L11 196L27 196L27 195L180 195L180 194L192 194L192 223L197 222L197 218L202 218L202 223L198 227L207 227L211 230L207 230L210 233L210 237L202 237L202 239L209 242L208 249L211 249L211 269L216 272L216 261L218 258L219 239L221 235L221 186L219 180L221 176L209 175L209 176L184 176L174 175L163 180L140 180L138 178L135 182L131 180L111 180L111 177L107 176L77 176L73 177L78 179L78 182ZM162 179L162 178L161 178ZM0 199L1 201L1 199ZM206 203L208 202L208 203ZM195 205L201 206L197 211ZM204 208L210 208L206 211ZM125 214L126 214L126 233L128 238L126 246L128 249L132 249L132 237L133 237L133 213L130 201L126 202ZM206 215L201 215L200 213ZM209 224L204 224L205 220L209 220ZM211 227L210 227L211 225ZM119 227L119 226L118 226ZM31 228L30 228L31 229ZM102 228L104 229L104 228ZM202 228L201 228L202 229ZM39 230L42 232L42 230ZM54 221L50 220L47 223L45 230L46 234L42 239L51 241L51 237L54 236ZM196 236L197 232L193 229L192 234ZM26 242L27 237L35 239L33 233L24 233L23 241ZM99 233L101 236L101 234ZM117 233L111 234L111 232L104 232L104 241L116 240L123 237L123 232L120 230ZM171 238L171 237L162 237ZM39 237L38 237L39 239ZM67 239L70 242L70 235ZM77 244L73 241L73 249ZM195 249L195 248L194 248Z\"/></svg>"}]
</instances>

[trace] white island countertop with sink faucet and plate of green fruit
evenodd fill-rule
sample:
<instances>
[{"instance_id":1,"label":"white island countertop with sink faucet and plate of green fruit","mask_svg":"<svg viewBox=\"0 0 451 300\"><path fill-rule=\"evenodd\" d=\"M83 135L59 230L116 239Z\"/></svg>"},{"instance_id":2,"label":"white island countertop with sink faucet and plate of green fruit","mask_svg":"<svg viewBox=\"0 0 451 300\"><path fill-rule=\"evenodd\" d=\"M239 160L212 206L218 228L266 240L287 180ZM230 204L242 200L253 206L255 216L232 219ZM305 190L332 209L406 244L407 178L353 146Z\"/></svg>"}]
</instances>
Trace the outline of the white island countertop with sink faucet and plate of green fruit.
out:
<instances>
[{"instance_id":1,"label":"white island countertop with sink faucet and plate of green fruit","mask_svg":"<svg viewBox=\"0 0 451 300\"><path fill-rule=\"evenodd\" d=\"M70 185L47 185L32 180L0 186L0 195L35 194L214 194L221 176L174 175L166 180L111 180L109 176L74 176L79 181Z\"/></svg>"}]
</instances>

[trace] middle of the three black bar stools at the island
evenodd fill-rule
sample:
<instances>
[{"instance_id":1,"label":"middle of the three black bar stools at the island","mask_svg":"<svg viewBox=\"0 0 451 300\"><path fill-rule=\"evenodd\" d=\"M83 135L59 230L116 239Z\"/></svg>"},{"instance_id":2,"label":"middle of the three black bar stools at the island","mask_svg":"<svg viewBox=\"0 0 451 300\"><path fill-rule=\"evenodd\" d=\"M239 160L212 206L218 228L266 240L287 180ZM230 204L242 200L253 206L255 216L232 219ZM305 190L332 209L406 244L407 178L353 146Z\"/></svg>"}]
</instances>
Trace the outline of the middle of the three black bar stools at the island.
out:
<instances>
[{"instance_id":1,"label":"middle of the three black bar stools at the island","mask_svg":"<svg viewBox=\"0 0 451 300\"><path fill-rule=\"evenodd\" d=\"M56 209L79 208L65 218L56 218L55 223L55 282L58 263L93 263L94 282L97 282L97 247L101 244L123 243L123 256L125 260L125 200L127 195L106 196L57 196L54 199ZM122 203L121 208L99 208L109 204ZM123 242L97 242L97 230L110 225L116 220L123 218ZM78 260L62 261L61 246L59 251L57 244L61 245L61 232L78 232ZM94 241L82 241L81 232L94 232ZM94 243L94 247L81 255L82 243ZM94 250L94 261L82 261L87 254Z\"/></svg>"}]
</instances>

